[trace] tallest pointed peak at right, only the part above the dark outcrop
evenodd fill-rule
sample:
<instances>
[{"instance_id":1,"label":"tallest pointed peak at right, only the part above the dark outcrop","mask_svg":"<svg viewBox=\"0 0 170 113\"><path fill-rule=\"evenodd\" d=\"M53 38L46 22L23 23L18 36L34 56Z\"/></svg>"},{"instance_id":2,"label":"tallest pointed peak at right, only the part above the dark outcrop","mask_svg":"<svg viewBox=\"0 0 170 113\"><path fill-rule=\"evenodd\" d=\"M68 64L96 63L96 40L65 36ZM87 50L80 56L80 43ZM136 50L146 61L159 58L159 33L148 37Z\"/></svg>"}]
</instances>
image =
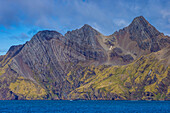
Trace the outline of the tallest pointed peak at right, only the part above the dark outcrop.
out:
<instances>
[{"instance_id":1,"label":"tallest pointed peak at right, only the part above the dark outcrop","mask_svg":"<svg viewBox=\"0 0 170 113\"><path fill-rule=\"evenodd\" d=\"M137 58L142 54L157 52L169 45L169 37L164 36L144 17L136 17L132 23L113 34L119 46Z\"/></svg>"}]
</instances>

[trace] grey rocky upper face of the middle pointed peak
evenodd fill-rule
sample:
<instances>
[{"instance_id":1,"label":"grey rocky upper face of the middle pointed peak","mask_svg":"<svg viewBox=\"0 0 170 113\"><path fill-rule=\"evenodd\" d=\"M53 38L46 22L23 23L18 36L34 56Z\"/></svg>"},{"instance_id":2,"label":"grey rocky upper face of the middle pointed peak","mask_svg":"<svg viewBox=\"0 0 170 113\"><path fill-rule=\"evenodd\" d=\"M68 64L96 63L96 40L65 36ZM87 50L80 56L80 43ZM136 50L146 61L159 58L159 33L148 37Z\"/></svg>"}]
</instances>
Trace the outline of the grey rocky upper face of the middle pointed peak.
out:
<instances>
[{"instance_id":1,"label":"grey rocky upper face of the middle pointed peak","mask_svg":"<svg viewBox=\"0 0 170 113\"><path fill-rule=\"evenodd\" d=\"M83 54L88 60L102 61L106 56L103 52L104 49L98 42L99 35L99 32L85 24L82 28L65 34L66 44Z\"/></svg>"}]
</instances>

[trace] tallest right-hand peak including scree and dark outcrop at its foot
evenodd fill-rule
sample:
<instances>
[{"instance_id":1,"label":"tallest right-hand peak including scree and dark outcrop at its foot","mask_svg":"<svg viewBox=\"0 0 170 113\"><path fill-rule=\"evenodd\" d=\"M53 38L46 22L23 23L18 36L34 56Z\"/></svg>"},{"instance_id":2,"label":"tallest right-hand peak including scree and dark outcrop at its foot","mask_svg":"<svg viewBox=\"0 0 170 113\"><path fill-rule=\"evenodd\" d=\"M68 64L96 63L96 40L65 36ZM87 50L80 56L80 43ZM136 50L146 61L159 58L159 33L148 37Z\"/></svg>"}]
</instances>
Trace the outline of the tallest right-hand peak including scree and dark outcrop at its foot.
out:
<instances>
[{"instance_id":1,"label":"tallest right-hand peak including scree and dark outcrop at its foot","mask_svg":"<svg viewBox=\"0 0 170 113\"><path fill-rule=\"evenodd\" d=\"M143 16L136 17L129 26L110 37L116 40L115 47L110 51L112 64L117 59L117 63L128 64L141 55L157 52L170 43L170 38L160 33Z\"/></svg>"}]
</instances>

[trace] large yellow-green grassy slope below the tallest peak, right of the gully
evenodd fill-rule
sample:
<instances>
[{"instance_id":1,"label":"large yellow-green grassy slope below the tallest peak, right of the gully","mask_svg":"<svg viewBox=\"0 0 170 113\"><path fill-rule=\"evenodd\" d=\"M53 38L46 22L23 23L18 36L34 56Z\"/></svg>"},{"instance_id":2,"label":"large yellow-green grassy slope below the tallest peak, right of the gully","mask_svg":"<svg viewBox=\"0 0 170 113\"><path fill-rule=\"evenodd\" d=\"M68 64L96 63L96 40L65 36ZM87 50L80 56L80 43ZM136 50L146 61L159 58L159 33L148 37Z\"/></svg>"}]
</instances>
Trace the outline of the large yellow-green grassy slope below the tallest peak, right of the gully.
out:
<instances>
[{"instance_id":1,"label":"large yellow-green grassy slope below the tallest peak, right of the gully","mask_svg":"<svg viewBox=\"0 0 170 113\"><path fill-rule=\"evenodd\" d=\"M170 48L125 66L90 66L70 99L169 100ZM70 75L69 75L70 76Z\"/></svg>"}]
</instances>

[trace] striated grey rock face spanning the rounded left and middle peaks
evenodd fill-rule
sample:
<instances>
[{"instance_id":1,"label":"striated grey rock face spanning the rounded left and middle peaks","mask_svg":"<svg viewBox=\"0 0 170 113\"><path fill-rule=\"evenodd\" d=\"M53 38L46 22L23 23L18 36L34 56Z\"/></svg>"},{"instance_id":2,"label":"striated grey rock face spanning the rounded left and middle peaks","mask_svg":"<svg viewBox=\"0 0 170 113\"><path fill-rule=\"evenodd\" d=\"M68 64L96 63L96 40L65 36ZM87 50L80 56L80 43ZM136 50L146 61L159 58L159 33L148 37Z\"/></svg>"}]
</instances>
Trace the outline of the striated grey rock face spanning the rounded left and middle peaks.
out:
<instances>
[{"instance_id":1,"label":"striated grey rock face spanning the rounded left and middle peaks","mask_svg":"<svg viewBox=\"0 0 170 113\"><path fill-rule=\"evenodd\" d=\"M97 40L98 35L88 25L68 32L65 36L55 31L38 32L13 58L10 67L35 83L43 83L44 87L49 84L55 86L52 88L54 94L62 98L68 93L65 92L69 88L65 76L71 69L81 62L88 64L105 60L104 50Z\"/></svg>"}]
</instances>

